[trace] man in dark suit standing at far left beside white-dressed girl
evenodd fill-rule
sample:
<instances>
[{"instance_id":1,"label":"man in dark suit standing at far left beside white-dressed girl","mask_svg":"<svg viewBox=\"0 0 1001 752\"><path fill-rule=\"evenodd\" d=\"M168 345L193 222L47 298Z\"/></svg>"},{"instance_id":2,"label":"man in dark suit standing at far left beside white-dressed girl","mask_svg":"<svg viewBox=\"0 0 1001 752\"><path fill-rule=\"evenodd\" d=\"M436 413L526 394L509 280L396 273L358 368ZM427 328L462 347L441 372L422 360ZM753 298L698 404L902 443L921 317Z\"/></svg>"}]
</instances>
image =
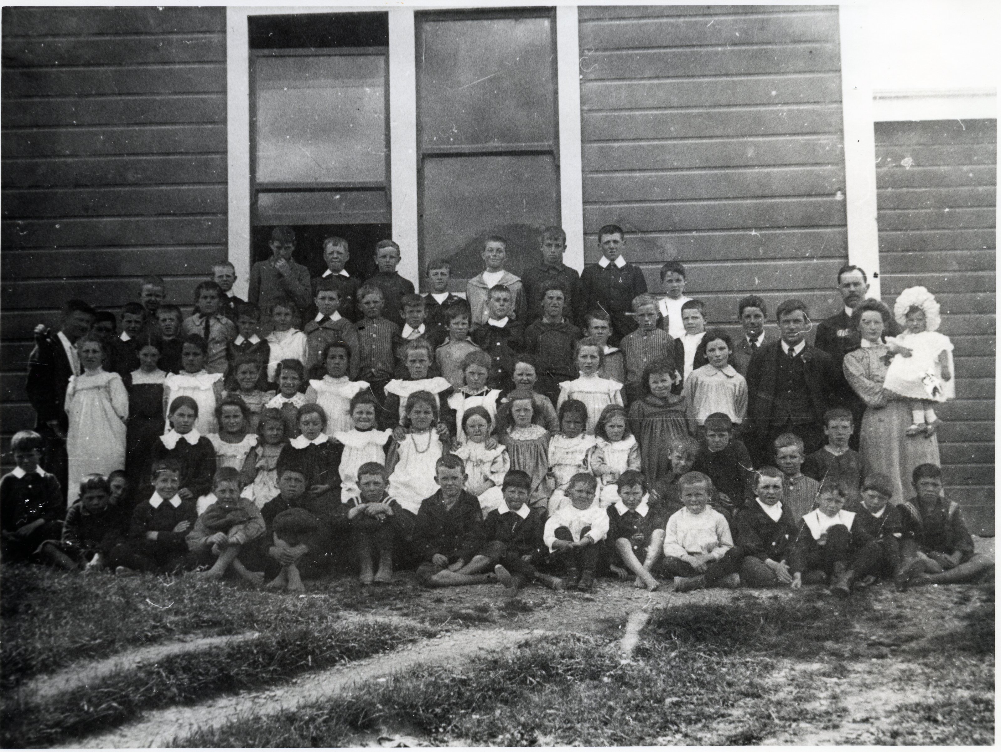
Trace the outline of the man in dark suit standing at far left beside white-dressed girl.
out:
<instances>
[{"instance_id":1,"label":"man in dark suit standing at far left beside white-dressed girl","mask_svg":"<svg viewBox=\"0 0 1001 752\"><path fill-rule=\"evenodd\" d=\"M35 349L28 357L28 383L25 391L35 408L35 430L45 439L42 467L59 479L66 495L69 460L66 457L66 431L69 419L63 406L71 376L79 376L80 359L74 344L90 331L94 309L82 300L68 300L62 309L59 331L44 324L35 327Z\"/></svg>"}]
</instances>

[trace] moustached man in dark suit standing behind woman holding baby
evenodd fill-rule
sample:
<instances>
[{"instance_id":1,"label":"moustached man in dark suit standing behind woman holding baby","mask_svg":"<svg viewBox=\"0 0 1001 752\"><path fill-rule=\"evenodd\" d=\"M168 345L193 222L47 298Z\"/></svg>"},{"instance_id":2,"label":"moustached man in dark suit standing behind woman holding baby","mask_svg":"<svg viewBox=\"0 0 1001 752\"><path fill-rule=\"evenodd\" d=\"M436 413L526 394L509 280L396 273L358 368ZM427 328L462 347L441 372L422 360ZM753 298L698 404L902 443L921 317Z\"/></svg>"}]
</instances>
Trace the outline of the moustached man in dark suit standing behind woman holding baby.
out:
<instances>
[{"instance_id":1,"label":"moustached man in dark suit standing behind woman holding baby","mask_svg":"<svg viewBox=\"0 0 1001 752\"><path fill-rule=\"evenodd\" d=\"M864 270L852 264L841 267L838 270L838 292L841 293L841 300L845 304L844 310L818 324L817 337L814 340L814 345L832 359L835 371L834 401L852 411L855 430L848 440L848 445L856 451L859 448L859 429L862 426L862 414L866 411L866 403L849 385L842 362L845 355L861 344L861 336L852 325L852 311L866 299L868 291L869 279ZM897 333L895 329L886 332L888 336L895 336Z\"/></svg>"}]
</instances>

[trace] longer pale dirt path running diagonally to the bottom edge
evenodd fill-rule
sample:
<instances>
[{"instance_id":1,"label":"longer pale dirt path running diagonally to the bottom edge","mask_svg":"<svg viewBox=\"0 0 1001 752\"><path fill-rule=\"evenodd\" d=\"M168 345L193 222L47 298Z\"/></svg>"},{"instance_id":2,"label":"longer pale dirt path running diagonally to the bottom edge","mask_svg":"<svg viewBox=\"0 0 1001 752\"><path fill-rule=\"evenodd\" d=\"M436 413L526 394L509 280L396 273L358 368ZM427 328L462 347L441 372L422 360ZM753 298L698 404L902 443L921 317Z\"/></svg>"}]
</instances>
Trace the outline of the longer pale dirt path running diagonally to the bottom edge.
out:
<instances>
[{"instance_id":1,"label":"longer pale dirt path running diagonally to the bottom edge","mask_svg":"<svg viewBox=\"0 0 1001 752\"><path fill-rule=\"evenodd\" d=\"M165 747L195 731L230 723L241 715L266 716L315 703L353 685L406 671L425 663L449 665L518 645L545 634L539 630L466 629L421 640L392 653L372 656L307 674L267 690L220 697L195 707L172 707L143 714L135 723L79 740L76 748Z\"/></svg>"}]
</instances>

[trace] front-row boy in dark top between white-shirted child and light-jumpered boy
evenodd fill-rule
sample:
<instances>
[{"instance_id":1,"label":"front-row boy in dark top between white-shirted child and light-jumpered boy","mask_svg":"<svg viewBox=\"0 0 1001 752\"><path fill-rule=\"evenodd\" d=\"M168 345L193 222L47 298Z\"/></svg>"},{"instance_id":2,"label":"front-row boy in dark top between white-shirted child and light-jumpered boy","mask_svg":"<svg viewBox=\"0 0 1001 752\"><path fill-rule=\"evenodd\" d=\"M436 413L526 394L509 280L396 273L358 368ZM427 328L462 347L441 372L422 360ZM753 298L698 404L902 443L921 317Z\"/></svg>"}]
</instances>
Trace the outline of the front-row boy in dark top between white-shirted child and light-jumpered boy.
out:
<instances>
[{"instance_id":1,"label":"front-row boy in dark top between white-shirted child and light-jumpered boy","mask_svg":"<svg viewBox=\"0 0 1001 752\"><path fill-rule=\"evenodd\" d=\"M619 501L606 511L609 515L609 540L615 545L612 571L620 580L636 575L636 587L657 590L660 583L653 575L664 552L664 534L668 516L662 507L648 503L647 479L639 470L627 470L619 476Z\"/></svg>"}]
</instances>

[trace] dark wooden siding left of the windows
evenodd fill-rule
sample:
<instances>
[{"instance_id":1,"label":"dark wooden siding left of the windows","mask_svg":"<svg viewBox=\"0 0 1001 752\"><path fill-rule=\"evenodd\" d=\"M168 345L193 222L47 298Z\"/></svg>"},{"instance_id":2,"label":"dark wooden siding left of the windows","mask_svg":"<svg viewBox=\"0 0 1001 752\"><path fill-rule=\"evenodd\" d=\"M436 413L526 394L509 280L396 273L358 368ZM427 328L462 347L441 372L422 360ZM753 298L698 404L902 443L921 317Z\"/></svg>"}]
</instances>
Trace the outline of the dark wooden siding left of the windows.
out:
<instances>
[{"instance_id":1,"label":"dark wooden siding left of the windows","mask_svg":"<svg viewBox=\"0 0 1001 752\"><path fill-rule=\"evenodd\" d=\"M3 448L34 424L31 330L226 257L225 8L3 9Z\"/></svg>"}]
</instances>

